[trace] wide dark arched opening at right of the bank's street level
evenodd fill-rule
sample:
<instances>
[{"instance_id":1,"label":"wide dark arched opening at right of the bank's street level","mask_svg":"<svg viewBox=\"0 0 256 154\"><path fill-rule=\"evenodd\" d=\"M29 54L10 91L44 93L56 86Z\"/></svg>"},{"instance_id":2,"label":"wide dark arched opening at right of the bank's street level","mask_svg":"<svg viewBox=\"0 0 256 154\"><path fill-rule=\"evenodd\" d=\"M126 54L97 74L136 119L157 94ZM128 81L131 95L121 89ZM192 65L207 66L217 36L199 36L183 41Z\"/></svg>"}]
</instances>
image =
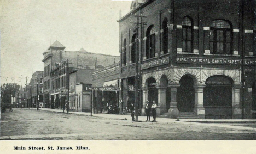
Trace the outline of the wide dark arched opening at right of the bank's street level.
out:
<instances>
[{"instance_id":1,"label":"wide dark arched opening at right of the bank's street level","mask_svg":"<svg viewBox=\"0 0 256 154\"><path fill-rule=\"evenodd\" d=\"M226 76L212 76L206 80L203 90L205 118L232 118L232 79Z\"/></svg>"}]
</instances>

